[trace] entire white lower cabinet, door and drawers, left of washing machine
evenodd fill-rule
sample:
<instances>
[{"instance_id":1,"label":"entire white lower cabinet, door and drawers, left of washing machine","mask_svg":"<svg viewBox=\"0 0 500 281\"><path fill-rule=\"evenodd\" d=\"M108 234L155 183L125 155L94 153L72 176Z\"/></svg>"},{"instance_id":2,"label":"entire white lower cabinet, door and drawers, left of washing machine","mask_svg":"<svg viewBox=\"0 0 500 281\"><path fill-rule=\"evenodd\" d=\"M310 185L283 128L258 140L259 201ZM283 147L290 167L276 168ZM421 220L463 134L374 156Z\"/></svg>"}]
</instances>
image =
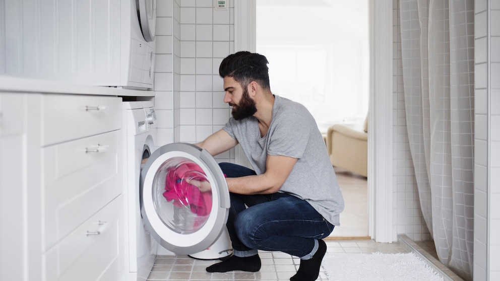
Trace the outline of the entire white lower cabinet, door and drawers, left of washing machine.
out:
<instances>
[{"instance_id":1,"label":"entire white lower cabinet, door and drawers, left of washing machine","mask_svg":"<svg viewBox=\"0 0 500 281\"><path fill-rule=\"evenodd\" d=\"M0 93L0 280L119 280L122 106Z\"/></svg>"}]
</instances>

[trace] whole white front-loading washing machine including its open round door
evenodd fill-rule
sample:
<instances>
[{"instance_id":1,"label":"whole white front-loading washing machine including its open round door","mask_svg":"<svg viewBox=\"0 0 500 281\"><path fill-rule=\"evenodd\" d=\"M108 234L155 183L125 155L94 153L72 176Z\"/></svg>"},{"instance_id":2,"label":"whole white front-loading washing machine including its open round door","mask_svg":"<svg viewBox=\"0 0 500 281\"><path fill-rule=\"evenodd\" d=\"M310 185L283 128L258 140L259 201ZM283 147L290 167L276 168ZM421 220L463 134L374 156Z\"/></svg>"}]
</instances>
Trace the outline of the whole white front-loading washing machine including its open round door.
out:
<instances>
[{"instance_id":1,"label":"whole white front-loading washing machine including its open round door","mask_svg":"<svg viewBox=\"0 0 500 281\"><path fill-rule=\"evenodd\" d=\"M190 144L155 150L153 101L123 102L123 108L127 280L147 280L157 254L230 255L229 191L215 159Z\"/></svg>"}]
</instances>

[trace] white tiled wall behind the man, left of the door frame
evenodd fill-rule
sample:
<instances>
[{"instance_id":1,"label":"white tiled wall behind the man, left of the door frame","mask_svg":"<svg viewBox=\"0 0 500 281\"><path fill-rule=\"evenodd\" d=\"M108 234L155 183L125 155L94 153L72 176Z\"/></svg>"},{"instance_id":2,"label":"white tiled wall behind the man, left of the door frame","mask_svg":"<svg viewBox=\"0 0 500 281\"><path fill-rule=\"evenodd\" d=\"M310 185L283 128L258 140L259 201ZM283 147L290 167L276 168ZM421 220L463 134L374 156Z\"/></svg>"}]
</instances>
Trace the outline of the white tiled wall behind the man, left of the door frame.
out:
<instances>
[{"instance_id":1,"label":"white tiled wall behind the man, left of the door frame","mask_svg":"<svg viewBox=\"0 0 500 281\"><path fill-rule=\"evenodd\" d=\"M229 4L230 9L216 11L212 0L158 2L155 106L162 119L157 146L200 142L227 122L230 111L218 73L234 50L234 5ZM216 158L234 162L234 152Z\"/></svg>"}]
</instances>

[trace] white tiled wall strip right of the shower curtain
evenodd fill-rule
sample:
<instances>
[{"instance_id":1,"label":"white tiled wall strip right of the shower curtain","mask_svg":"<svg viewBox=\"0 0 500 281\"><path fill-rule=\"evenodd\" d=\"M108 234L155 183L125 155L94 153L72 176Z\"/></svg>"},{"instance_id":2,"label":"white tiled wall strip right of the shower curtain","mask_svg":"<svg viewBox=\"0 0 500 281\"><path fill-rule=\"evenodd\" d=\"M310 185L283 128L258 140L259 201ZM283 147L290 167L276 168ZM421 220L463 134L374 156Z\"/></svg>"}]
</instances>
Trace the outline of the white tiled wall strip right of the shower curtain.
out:
<instances>
[{"instance_id":1,"label":"white tiled wall strip right of the shower curtain","mask_svg":"<svg viewBox=\"0 0 500 281\"><path fill-rule=\"evenodd\" d=\"M474 280L500 279L499 16L499 1L475 1Z\"/></svg>"}]
</instances>

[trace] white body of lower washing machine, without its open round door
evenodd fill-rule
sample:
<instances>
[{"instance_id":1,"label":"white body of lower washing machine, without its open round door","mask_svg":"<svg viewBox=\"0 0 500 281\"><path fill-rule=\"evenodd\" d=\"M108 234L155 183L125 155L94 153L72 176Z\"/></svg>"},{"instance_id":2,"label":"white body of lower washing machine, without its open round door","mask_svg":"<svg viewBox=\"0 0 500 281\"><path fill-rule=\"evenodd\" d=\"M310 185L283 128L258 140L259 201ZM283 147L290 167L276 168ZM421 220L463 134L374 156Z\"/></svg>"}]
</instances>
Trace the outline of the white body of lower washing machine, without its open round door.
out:
<instances>
[{"instance_id":1,"label":"white body of lower washing machine, without its open round door","mask_svg":"<svg viewBox=\"0 0 500 281\"><path fill-rule=\"evenodd\" d=\"M153 101L123 102L123 109L126 280L146 280L156 259L158 243L141 218L139 190L142 160L155 150L156 114Z\"/></svg>"}]
</instances>

